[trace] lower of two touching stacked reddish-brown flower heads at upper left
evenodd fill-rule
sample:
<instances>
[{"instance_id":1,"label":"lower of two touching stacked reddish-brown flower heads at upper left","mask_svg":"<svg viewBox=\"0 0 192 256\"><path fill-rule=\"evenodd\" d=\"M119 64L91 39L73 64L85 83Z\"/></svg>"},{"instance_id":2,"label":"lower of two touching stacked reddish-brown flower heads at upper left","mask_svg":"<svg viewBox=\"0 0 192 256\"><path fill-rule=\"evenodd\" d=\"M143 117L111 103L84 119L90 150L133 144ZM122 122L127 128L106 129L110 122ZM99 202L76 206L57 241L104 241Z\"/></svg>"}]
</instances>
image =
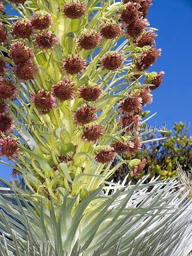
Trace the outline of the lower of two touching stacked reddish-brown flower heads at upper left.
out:
<instances>
[{"instance_id":1,"label":"lower of two touching stacked reddish-brown flower heads at upper left","mask_svg":"<svg viewBox=\"0 0 192 256\"><path fill-rule=\"evenodd\" d=\"M24 82L26 80L33 80L35 78L35 73L38 71L31 60L15 65L13 68L16 72L18 81Z\"/></svg>"}]
</instances>

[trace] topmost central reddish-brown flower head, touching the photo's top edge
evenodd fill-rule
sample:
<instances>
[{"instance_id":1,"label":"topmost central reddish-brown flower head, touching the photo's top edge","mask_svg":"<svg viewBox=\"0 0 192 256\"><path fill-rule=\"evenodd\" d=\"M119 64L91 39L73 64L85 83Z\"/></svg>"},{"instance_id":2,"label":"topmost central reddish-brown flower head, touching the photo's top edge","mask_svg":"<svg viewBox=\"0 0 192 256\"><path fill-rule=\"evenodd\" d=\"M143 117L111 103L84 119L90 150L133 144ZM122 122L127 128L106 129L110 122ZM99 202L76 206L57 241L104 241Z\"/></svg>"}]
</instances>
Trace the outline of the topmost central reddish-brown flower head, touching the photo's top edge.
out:
<instances>
[{"instance_id":1,"label":"topmost central reddish-brown flower head, touching the photo's top edge","mask_svg":"<svg viewBox=\"0 0 192 256\"><path fill-rule=\"evenodd\" d=\"M86 4L78 0L72 0L64 4L61 12L68 18L79 18L86 12Z\"/></svg>"}]
</instances>

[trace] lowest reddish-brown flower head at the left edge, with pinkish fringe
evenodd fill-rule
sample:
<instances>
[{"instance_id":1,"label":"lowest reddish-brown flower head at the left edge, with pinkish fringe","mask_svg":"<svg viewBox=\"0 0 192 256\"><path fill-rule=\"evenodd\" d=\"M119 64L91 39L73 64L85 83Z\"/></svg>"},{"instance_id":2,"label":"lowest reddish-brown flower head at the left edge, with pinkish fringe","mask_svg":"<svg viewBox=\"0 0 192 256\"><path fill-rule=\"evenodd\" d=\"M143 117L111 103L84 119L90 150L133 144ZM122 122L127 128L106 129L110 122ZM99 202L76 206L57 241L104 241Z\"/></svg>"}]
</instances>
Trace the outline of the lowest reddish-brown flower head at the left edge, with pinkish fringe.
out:
<instances>
[{"instance_id":1,"label":"lowest reddish-brown flower head at the left edge, with pinkish fringe","mask_svg":"<svg viewBox=\"0 0 192 256\"><path fill-rule=\"evenodd\" d=\"M2 137L0 139L0 156L7 156L9 160L13 157L17 157L18 146L16 142L18 139L13 137Z\"/></svg>"}]
</instances>

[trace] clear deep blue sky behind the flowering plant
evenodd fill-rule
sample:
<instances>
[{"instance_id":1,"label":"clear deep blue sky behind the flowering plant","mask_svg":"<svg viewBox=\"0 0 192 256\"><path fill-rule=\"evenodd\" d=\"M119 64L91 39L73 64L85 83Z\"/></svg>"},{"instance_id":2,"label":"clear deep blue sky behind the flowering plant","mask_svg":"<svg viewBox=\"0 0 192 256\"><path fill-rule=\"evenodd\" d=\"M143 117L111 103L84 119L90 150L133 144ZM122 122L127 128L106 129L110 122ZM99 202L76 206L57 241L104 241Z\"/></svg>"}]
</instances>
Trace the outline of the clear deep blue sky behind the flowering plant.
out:
<instances>
[{"instance_id":1,"label":"clear deep blue sky behind the flowering plant","mask_svg":"<svg viewBox=\"0 0 192 256\"><path fill-rule=\"evenodd\" d=\"M151 114L158 112L148 125L166 123L172 129L174 122L191 121L192 1L153 0L147 19L151 27L159 29L156 44L162 49L150 70L166 73L161 86L153 92L154 102L145 107ZM0 164L1 177L10 179L10 173L11 168Z\"/></svg>"}]
</instances>

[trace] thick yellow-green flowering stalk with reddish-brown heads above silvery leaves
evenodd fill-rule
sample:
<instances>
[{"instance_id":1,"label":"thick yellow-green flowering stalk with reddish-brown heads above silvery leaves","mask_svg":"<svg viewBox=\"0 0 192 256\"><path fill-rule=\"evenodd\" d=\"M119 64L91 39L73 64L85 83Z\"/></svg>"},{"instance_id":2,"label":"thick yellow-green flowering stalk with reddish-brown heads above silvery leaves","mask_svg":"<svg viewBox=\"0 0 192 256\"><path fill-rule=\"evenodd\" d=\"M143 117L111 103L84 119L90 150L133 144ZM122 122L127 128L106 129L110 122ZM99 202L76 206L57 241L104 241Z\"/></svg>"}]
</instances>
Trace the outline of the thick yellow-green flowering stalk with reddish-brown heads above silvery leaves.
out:
<instances>
[{"instance_id":1,"label":"thick yellow-green flowering stalk with reddish-brown heads above silvery leaves","mask_svg":"<svg viewBox=\"0 0 192 256\"><path fill-rule=\"evenodd\" d=\"M164 73L146 71L161 50L151 1L137 2L7 0L15 16L1 4L1 155L33 193L88 194L141 148L142 108Z\"/></svg>"}]
</instances>

